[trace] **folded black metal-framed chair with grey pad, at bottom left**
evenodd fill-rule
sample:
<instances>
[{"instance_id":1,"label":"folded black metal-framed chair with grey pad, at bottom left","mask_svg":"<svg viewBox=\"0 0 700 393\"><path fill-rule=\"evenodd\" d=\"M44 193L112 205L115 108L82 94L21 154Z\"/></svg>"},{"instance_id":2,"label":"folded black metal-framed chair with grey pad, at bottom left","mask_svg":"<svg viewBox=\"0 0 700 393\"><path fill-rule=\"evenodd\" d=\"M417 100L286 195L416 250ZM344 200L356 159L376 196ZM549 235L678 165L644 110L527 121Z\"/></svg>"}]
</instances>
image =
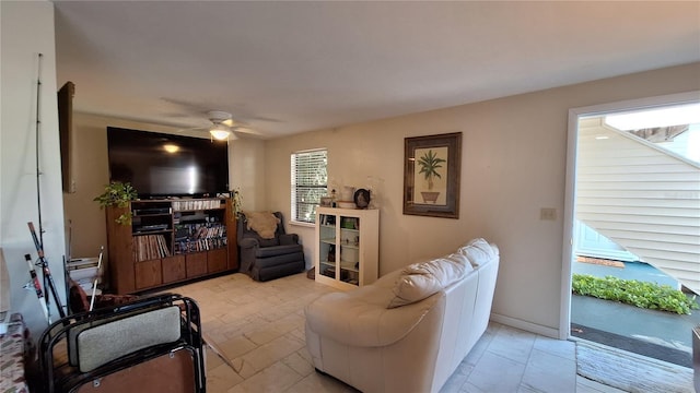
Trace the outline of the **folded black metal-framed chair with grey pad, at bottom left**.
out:
<instances>
[{"instance_id":1,"label":"folded black metal-framed chair with grey pad, at bottom left","mask_svg":"<svg viewBox=\"0 0 700 393\"><path fill-rule=\"evenodd\" d=\"M39 338L39 389L52 392L206 392L197 303L139 298L63 318Z\"/></svg>"}]
</instances>

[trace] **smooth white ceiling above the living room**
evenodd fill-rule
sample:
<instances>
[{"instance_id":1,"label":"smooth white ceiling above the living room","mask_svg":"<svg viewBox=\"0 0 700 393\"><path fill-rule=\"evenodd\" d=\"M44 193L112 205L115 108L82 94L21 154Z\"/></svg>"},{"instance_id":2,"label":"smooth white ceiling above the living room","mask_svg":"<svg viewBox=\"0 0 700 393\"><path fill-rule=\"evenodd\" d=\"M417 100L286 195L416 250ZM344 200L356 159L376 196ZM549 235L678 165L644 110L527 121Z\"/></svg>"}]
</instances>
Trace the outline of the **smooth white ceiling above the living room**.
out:
<instances>
[{"instance_id":1,"label":"smooth white ceiling above the living room","mask_svg":"<svg viewBox=\"0 0 700 393\"><path fill-rule=\"evenodd\" d=\"M55 1L81 112L260 138L700 61L700 2Z\"/></svg>"}]
</instances>

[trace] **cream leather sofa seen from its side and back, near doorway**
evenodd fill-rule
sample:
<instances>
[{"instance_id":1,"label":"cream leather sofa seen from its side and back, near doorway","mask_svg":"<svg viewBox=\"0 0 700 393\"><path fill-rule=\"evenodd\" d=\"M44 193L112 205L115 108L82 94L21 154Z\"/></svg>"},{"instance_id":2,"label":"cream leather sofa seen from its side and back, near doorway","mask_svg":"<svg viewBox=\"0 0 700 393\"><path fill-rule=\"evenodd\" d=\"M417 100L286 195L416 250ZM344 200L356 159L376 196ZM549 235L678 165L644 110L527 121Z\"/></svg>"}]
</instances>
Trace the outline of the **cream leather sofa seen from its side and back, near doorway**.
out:
<instances>
[{"instance_id":1,"label":"cream leather sofa seen from its side and back, near doorway","mask_svg":"<svg viewBox=\"0 0 700 393\"><path fill-rule=\"evenodd\" d=\"M438 392L486 331L499 249L483 239L324 295L306 309L317 371L362 392Z\"/></svg>"}]
</instances>

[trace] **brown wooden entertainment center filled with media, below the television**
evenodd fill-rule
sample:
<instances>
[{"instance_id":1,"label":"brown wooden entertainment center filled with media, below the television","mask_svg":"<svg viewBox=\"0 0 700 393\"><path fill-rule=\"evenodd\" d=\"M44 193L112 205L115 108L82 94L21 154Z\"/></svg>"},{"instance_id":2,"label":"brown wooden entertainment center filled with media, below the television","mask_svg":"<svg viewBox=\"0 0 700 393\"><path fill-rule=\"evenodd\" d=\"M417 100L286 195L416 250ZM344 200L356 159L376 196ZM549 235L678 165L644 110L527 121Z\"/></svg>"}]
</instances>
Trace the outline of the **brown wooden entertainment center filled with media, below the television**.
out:
<instances>
[{"instance_id":1,"label":"brown wooden entertainment center filled with media, below the television","mask_svg":"<svg viewBox=\"0 0 700 393\"><path fill-rule=\"evenodd\" d=\"M116 222L131 212L131 225ZM229 198L132 201L107 207L110 289L155 289L238 269Z\"/></svg>"}]
</instances>

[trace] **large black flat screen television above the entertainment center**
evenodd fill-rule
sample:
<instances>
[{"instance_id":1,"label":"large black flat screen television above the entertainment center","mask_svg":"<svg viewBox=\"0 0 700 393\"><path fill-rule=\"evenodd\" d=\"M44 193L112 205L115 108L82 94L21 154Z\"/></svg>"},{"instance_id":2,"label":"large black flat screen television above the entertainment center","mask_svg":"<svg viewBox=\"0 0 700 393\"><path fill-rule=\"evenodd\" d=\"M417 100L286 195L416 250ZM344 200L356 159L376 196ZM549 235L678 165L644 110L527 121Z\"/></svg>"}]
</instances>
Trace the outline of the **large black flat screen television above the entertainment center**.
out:
<instances>
[{"instance_id":1,"label":"large black flat screen television above the entertainment center","mask_svg":"<svg viewBox=\"0 0 700 393\"><path fill-rule=\"evenodd\" d=\"M229 192L229 146L191 136L107 127L110 181L139 198L215 196Z\"/></svg>"}]
</instances>

